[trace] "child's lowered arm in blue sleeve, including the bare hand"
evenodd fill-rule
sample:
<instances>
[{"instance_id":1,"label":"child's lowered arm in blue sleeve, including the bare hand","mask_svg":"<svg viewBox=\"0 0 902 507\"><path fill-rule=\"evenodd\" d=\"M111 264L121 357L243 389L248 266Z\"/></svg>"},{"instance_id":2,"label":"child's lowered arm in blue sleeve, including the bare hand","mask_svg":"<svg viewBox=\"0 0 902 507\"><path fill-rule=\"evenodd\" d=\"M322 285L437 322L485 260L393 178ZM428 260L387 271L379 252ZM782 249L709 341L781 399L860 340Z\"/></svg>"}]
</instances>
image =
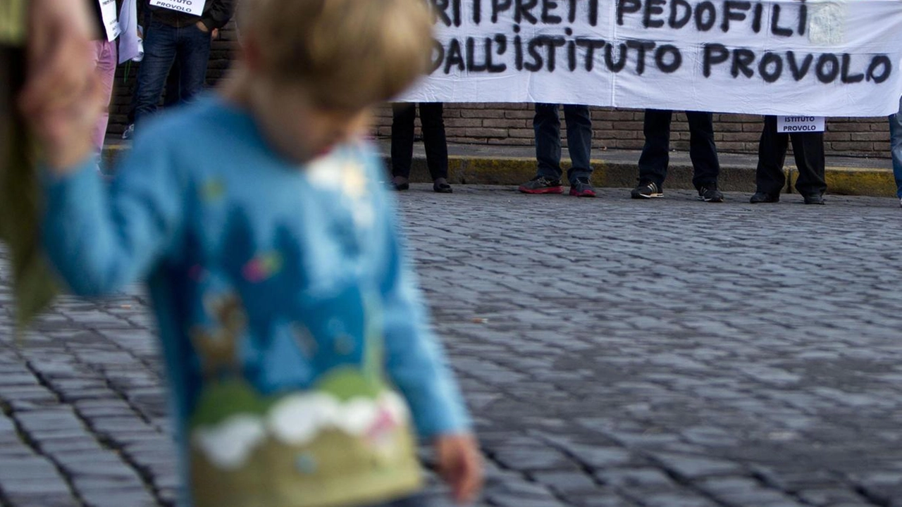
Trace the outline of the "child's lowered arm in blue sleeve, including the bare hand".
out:
<instances>
[{"instance_id":1,"label":"child's lowered arm in blue sleeve, including the bare hand","mask_svg":"<svg viewBox=\"0 0 902 507\"><path fill-rule=\"evenodd\" d=\"M428 328L394 211L386 220L388 265L382 283L388 372L410 403L419 436L434 441L439 474L458 502L473 502L483 484L479 447L453 373Z\"/></svg>"}]
</instances>

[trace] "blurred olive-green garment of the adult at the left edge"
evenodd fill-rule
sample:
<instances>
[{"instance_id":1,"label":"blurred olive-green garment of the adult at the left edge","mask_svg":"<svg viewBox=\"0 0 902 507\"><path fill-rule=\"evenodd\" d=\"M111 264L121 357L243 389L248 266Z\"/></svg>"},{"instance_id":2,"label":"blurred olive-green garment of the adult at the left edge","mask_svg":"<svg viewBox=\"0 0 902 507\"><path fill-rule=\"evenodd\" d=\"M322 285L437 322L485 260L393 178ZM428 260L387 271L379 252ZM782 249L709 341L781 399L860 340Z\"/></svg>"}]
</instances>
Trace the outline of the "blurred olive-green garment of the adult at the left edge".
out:
<instances>
[{"instance_id":1,"label":"blurred olive-green garment of the adult at the left edge","mask_svg":"<svg viewBox=\"0 0 902 507\"><path fill-rule=\"evenodd\" d=\"M40 193L34 143L15 107L23 79L23 51L0 46L0 241L12 256L19 332L56 295L38 234Z\"/></svg>"}]
</instances>

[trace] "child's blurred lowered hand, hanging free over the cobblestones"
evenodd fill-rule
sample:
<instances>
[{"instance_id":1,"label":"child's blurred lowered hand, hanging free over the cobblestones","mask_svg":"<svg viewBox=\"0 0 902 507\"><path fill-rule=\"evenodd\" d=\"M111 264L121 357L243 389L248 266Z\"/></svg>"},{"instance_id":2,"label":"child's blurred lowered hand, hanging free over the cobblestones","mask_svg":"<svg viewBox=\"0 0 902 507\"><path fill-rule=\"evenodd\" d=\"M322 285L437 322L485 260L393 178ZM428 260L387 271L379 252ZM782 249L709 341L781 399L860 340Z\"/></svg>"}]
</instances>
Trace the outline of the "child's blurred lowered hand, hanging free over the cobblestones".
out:
<instances>
[{"instance_id":1,"label":"child's blurred lowered hand, hanging free over the cobblestones","mask_svg":"<svg viewBox=\"0 0 902 507\"><path fill-rule=\"evenodd\" d=\"M476 438L470 434L436 439L438 474L451 486L459 503L474 502L483 488L483 461Z\"/></svg>"}]
</instances>

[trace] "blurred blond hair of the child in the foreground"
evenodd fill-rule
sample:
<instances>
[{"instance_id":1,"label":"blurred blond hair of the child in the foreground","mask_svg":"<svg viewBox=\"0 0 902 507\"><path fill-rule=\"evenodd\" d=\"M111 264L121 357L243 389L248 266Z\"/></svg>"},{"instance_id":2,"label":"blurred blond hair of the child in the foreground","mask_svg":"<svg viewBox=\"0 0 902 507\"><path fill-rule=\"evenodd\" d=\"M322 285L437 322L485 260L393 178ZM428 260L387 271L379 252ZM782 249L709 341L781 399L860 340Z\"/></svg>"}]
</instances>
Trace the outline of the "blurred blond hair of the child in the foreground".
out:
<instances>
[{"instance_id":1,"label":"blurred blond hair of the child in the foreground","mask_svg":"<svg viewBox=\"0 0 902 507\"><path fill-rule=\"evenodd\" d=\"M238 23L270 77L317 106L360 109L394 97L429 65L425 0L242 0Z\"/></svg>"}]
</instances>

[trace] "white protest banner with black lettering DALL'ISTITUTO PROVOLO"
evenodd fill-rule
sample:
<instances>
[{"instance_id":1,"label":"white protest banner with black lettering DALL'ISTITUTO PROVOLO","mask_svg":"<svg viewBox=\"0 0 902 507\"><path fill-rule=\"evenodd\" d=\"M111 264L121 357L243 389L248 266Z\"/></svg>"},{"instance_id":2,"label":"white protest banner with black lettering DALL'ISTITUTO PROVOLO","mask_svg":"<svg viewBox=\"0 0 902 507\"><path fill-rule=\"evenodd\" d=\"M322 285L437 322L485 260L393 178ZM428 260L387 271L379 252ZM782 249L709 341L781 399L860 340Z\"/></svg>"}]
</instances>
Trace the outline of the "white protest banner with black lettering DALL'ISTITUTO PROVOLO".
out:
<instances>
[{"instance_id":1,"label":"white protest banner with black lettering DALL'ISTITUTO PROVOLO","mask_svg":"<svg viewBox=\"0 0 902 507\"><path fill-rule=\"evenodd\" d=\"M428 1L434 70L401 100L879 116L902 95L899 0Z\"/></svg>"}]
</instances>

